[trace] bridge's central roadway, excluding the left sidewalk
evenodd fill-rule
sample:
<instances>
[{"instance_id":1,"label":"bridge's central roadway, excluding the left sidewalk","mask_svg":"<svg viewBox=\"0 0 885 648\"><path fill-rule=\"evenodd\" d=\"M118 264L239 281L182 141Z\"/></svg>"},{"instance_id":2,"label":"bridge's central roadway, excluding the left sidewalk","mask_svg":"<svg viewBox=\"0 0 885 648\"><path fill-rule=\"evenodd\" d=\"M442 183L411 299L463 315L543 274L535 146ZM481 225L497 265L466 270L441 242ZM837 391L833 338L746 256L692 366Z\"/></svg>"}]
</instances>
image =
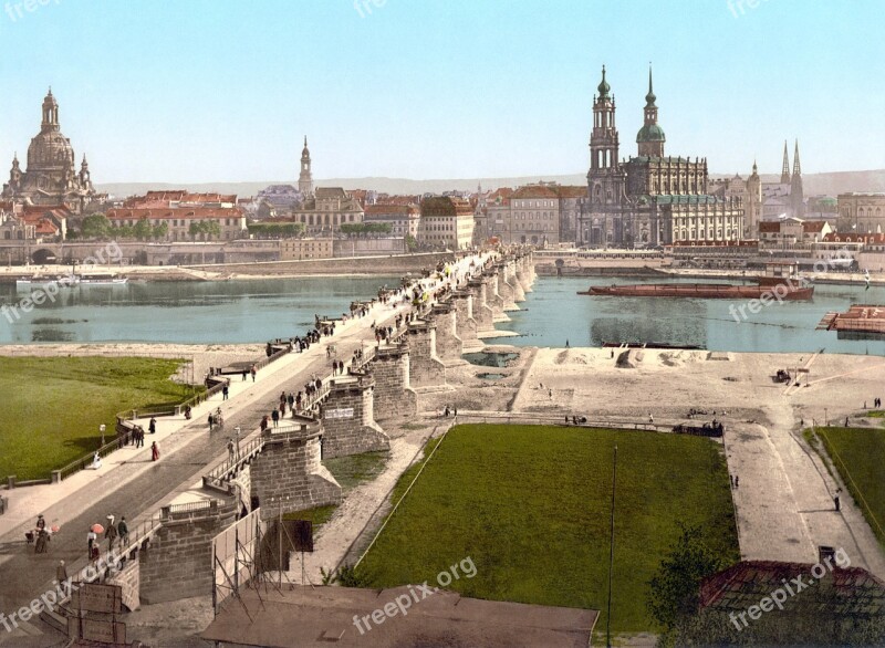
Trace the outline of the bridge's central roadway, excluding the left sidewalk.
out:
<instances>
[{"instance_id":1,"label":"bridge's central roadway, excluding the left sidewalk","mask_svg":"<svg viewBox=\"0 0 885 648\"><path fill-rule=\"evenodd\" d=\"M466 273L469 261L468 258L459 262L461 273ZM34 554L33 546L24 545L24 531L30 529L32 523L21 525L6 534L0 539L0 613L9 616L52 589L52 579L55 577L55 567L60 560L65 561L69 565L67 575L73 576L75 568L72 566L80 567L84 564L86 534L92 524L95 522L106 524L106 515L110 513L115 514L117 520L121 515L125 515L132 532L139 518L149 516L160 504L168 503L170 495L190 488L207 471L207 466L227 454L227 440L233 433L235 427L240 426L241 438L247 438L258 428L261 417L279 405L281 390L296 393L303 389L304 384L314 374L325 379L331 374L331 359L326 357L329 344L336 345L337 358L347 360L356 348L366 343L374 344L374 333L369 327L373 321L378 325L392 325L392 320L397 314L408 312L410 306L392 309L389 305L376 305L366 316L351 321L348 324L352 325L346 326L347 330L332 337L322 338L319 344L311 345L302 354L289 354L261 369L258 382L254 384L248 382L244 393L239 395L235 393L235 396L223 405L220 396L212 398L208 401L208 406L195 410L194 420L158 443L160 459L156 463L150 461L148 435L145 448L132 460L108 472L101 482L72 492L42 511L50 523L59 520L62 525L61 533L55 534L50 542L49 553ZM243 384L235 377L232 386L238 385ZM210 433L207 430L206 416L209 408L214 409L217 406L222 406L225 427ZM150 466L145 469L145 463ZM139 467L143 470L138 470ZM133 470L138 474L129 479L126 472ZM119 483L115 484L115 481ZM34 520L38 512L34 511ZM106 547L105 541L102 543L103 553ZM4 557L7 560L3 560ZM9 560L10 557L12 560ZM34 631L28 629L27 624L20 626L24 626L25 631ZM14 638L0 630L0 645L9 639L12 639L13 644L8 645L14 645Z\"/></svg>"}]
</instances>

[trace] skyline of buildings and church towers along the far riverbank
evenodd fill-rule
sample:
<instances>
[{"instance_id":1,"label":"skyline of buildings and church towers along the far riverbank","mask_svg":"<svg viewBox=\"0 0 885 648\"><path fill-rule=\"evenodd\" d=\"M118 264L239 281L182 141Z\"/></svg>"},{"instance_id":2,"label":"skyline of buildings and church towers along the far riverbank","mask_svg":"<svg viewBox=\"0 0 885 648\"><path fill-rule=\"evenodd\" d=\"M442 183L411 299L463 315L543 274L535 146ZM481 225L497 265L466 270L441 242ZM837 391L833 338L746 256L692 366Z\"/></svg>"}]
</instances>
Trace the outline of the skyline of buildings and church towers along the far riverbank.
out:
<instances>
[{"instance_id":1,"label":"skyline of buildings and church towers along the far riverbank","mask_svg":"<svg viewBox=\"0 0 885 648\"><path fill-rule=\"evenodd\" d=\"M40 132L28 148L27 169L13 156L0 195L0 241L64 239L91 213L104 213L112 228L149 227L150 240L166 243L242 241L251 222L299 223L283 247L284 258L333 255L360 224L384 223L387 234L367 237L363 252L408 249L460 250L487 242L601 248L704 248L758 240L801 240L795 222L820 232L873 236L883 232L885 194L843 194L839 199L805 199L799 143L792 160L787 143L779 181L764 182L756 163L747 179L709 177L706 158L665 155L652 71L636 155L621 158L616 105L605 67L593 100L590 169L585 185L540 181L518 188L442 196L385 196L372 190L314 187L306 137L295 185L275 185L254 198L232 195L148 191L114 201L97 192L85 156L77 169L70 139L61 133L59 104L48 93ZM210 227L207 227L210 223ZM791 229L792 228L792 229ZM815 229L818 228L818 229ZM356 228L358 229L358 228ZM781 229L785 233L781 236ZM121 230L124 231L124 230ZM128 231L128 230L125 230ZM277 230L279 231L279 230ZM821 236L826 236L823 232ZM336 251L337 250L337 251ZM357 244L350 248L357 253Z\"/></svg>"}]
</instances>

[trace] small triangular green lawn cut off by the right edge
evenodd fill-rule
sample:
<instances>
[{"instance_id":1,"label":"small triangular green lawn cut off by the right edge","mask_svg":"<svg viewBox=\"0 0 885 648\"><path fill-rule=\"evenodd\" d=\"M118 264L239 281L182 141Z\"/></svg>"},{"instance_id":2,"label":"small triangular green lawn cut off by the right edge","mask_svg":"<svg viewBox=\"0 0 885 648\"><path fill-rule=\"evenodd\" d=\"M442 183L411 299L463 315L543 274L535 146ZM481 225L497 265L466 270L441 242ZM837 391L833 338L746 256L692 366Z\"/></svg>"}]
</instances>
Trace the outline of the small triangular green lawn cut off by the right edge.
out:
<instances>
[{"instance_id":1,"label":"small triangular green lawn cut off by the right edge","mask_svg":"<svg viewBox=\"0 0 885 648\"><path fill-rule=\"evenodd\" d=\"M818 428L842 481L879 542L885 545L885 430L877 428Z\"/></svg>"}]
</instances>

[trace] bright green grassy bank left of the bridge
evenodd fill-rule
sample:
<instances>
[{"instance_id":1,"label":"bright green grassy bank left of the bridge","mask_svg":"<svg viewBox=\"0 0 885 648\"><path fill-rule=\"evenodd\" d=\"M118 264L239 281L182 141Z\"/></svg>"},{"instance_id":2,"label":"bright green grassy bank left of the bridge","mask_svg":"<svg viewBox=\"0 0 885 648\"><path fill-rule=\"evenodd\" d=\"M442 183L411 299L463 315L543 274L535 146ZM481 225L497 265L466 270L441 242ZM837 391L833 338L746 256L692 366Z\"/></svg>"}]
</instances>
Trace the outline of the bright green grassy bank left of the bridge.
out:
<instances>
[{"instance_id":1,"label":"bright green grassy bank left of the bridge","mask_svg":"<svg viewBox=\"0 0 885 648\"><path fill-rule=\"evenodd\" d=\"M180 403L190 387L169 380L181 360L0 357L0 479L48 478L113 438L124 409Z\"/></svg>"}]
</instances>

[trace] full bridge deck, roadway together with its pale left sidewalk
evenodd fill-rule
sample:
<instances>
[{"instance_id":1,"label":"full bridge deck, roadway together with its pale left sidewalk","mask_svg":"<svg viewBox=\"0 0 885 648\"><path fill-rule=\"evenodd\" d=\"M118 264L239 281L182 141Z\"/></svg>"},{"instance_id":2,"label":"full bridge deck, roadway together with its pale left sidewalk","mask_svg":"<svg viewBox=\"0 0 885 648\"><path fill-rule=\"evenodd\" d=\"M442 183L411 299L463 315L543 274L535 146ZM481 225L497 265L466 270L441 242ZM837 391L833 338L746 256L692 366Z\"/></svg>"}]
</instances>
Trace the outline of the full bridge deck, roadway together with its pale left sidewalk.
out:
<instances>
[{"instance_id":1,"label":"full bridge deck, roadway together with its pale left sidewalk","mask_svg":"<svg viewBox=\"0 0 885 648\"><path fill-rule=\"evenodd\" d=\"M427 292L454 286L469 275L471 263L478 271L490 258L464 258L452 264L449 278L423 280L423 286ZM60 560L69 565L69 576L74 575L74 566L85 560L86 534L92 524L106 525L108 514L115 515L116 521L125 515L134 531L140 520L189 490L209 466L227 456L227 442L236 427L242 430L241 441L258 435L261 417L279 404L280 391L298 391L312 377L325 379L331 374L331 358L326 357L330 344L336 346L336 357L346 360L355 349L375 343L373 322L388 325L410 307L375 304L366 316L339 325L333 336L321 338L304 353L288 354L262 368L254 382L233 377L228 400L222 401L220 394L210 398L194 408L191 420L157 419L157 433L146 435L144 448L124 447L106 457L100 470L81 471L60 484L6 491L10 511L0 516L0 613L10 615L50 589ZM221 407L225 426L209 432L208 414L217 407ZM147 428L146 421L139 422ZM153 441L160 450L156 462L150 459ZM33 527L38 513L45 516L48 525L61 526L45 554L35 554L33 545L24 544L24 533ZM106 547L104 541L103 551ZM40 633L34 621L20 623L14 633L0 631L0 645L21 645L25 635Z\"/></svg>"}]
</instances>

